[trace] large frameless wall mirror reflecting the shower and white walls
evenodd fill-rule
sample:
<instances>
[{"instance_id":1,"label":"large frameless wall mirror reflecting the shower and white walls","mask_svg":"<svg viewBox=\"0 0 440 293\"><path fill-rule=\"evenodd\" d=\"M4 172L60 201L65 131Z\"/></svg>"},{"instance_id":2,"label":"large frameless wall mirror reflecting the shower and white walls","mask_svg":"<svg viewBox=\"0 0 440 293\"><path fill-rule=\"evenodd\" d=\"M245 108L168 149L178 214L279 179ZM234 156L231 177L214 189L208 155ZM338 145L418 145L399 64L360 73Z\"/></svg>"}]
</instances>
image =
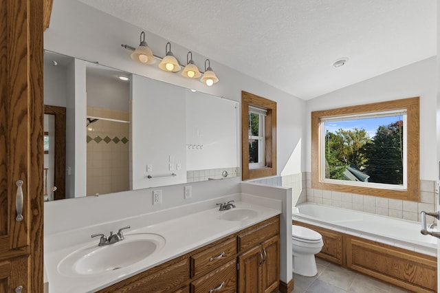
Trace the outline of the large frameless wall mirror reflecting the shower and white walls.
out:
<instances>
[{"instance_id":1,"label":"large frameless wall mirror reflecting the shower and white walls","mask_svg":"<svg viewBox=\"0 0 440 293\"><path fill-rule=\"evenodd\" d=\"M44 65L45 200L240 176L238 102L49 51Z\"/></svg>"}]
</instances>

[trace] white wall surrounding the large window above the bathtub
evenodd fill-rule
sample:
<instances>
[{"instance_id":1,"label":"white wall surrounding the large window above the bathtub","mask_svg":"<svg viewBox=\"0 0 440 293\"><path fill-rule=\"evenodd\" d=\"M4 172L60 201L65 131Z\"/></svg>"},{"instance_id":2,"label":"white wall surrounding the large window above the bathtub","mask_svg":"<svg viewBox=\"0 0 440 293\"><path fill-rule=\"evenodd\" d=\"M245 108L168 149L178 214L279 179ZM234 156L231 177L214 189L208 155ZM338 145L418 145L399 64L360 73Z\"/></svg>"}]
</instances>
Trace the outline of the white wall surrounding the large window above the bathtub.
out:
<instances>
[{"instance_id":1,"label":"white wall surrounding the large window above the bathtub","mask_svg":"<svg viewBox=\"0 0 440 293\"><path fill-rule=\"evenodd\" d=\"M311 171L311 111L333 109L371 102L420 97L420 179L437 177L436 111L437 63L431 57L344 87L307 102L307 171ZM343 68L342 68L343 69Z\"/></svg>"}]
</instances>

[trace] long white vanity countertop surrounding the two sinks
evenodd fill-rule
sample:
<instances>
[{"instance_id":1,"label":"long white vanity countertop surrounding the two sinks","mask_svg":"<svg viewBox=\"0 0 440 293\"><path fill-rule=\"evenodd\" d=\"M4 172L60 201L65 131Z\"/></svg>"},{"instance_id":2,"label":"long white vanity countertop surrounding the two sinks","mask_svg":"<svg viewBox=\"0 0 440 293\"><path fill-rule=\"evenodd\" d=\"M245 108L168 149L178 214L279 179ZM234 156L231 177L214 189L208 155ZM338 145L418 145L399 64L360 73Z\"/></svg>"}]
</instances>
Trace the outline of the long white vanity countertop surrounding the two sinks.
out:
<instances>
[{"instance_id":1,"label":"long white vanity countertop surrounding the two sinks","mask_svg":"<svg viewBox=\"0 0 440 293\"><path fill-rule=\"evenodd\" d=\"M153 268L156 265L175 259L175 257L179 257L182 254L205 246L208 243L221 239L227 235L231 235L234 232L243 230L244 228L259 223L260 221L281 214L281 207L278 210L267 208L265 206L248 204L246 202L236 202L235 204L236 208L250 208L256 210L256 217L245 219L243 221L225 221L220 219L220 215L225 213L225 211L221 212L219 211L219 208L210 208L209 210L203 210L199 213L162 221L151 226L146 226L148 225L148 221L146 221L145 226L137 224L135 226L138 228L124 230L124 235L126 236L136 233L153 233L161 235L165 239L165 244L149 257L146 257L146 259L134 263L133 265L97 274L67 275L58 271L58 264L65 259L67 255L85 246L91 246L94 243L96 244L96 247L98 247L99 239L89 239L89 235L91 235L91 230L89 228L73 230L68 233L63 232L47 235L45 237L44 261L47 280L49 281L49 293L83 293L100 290L113 283L118 283L119 281L127 279L129 276ZM170 213L170 211L164 211L163 213ZM132 219L132 221L139 221L139 219ZM122 224L127 223L129 224L129 221L125 220L121 223L120 227L122 228ZM98 228L99 227L94 227L94 231L96 232ZM104 232L104 234L108 235L109 231L100 232ZM84 237L85 233L87 234L87 237ZM89 240L78 242L78 238ZM66 243L70 243L71 245L67 245Z\"/></svg>"}]
</instances>

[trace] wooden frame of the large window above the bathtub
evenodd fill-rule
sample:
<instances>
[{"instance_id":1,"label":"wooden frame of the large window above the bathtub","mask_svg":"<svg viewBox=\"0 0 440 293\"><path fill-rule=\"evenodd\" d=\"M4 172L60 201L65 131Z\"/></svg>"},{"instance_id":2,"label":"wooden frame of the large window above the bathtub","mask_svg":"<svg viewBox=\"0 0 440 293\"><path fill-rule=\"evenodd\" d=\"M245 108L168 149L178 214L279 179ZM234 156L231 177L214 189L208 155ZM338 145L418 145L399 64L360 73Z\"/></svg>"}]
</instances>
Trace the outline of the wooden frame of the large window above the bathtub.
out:
<instances>
[{"instance_id":1,"label":"wooden frame of the large window above the bathtub","mask_svg":"<svg viewBox=\"0 0 440 293\"><path fill-rule=\"evenodd\" d=\"M311 112L311 188L419 202L419 97ZM328 182L322 178L321 118L406 109L406 189ZM376 184L372 184L376 185Z\"/></svg>"}]
</instances>

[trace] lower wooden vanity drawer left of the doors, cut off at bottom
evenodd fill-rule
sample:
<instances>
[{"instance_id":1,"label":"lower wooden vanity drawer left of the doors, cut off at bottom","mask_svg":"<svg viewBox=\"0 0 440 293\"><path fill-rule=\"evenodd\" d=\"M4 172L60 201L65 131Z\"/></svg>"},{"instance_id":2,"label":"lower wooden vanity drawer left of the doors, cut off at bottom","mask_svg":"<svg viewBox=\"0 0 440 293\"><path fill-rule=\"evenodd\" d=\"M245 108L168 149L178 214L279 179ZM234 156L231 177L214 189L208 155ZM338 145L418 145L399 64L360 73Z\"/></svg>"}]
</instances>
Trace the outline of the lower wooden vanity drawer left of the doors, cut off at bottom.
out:
<instances>
[{"instance_id":1,"label":"lower wooden vanity drawer left of the doors, cut off at bottom","mask_svg":"<svg viewBox=\"0 0 440 293\"><path fill-rule=\"evenodd\" d=\"M192 293L206 293L217 289L214 292L226 293L236 292L236 259L221 265L214 270L191 283ZM211 291L212 292L212 291Z\"/></svg>"}]
</instances>

